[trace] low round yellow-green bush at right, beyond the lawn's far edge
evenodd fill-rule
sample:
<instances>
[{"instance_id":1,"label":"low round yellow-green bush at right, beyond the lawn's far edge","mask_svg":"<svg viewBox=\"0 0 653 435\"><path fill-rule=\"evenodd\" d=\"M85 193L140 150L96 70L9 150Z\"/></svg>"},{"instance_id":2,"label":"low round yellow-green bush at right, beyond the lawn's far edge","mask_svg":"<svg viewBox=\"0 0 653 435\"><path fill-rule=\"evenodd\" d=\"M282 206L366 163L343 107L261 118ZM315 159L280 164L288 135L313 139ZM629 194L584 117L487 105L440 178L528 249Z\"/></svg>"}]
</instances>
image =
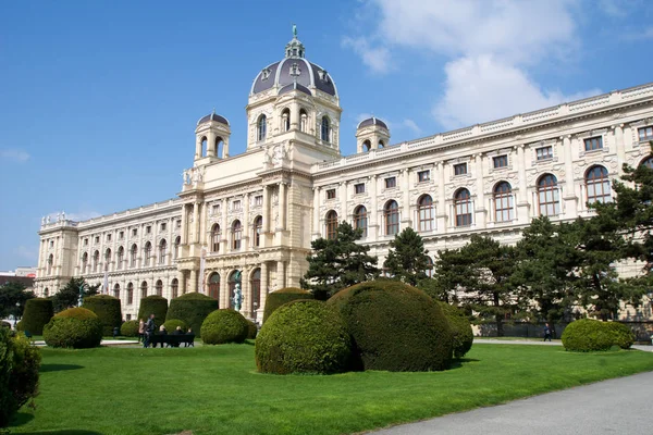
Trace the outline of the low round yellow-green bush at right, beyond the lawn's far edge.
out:
<instances>
[{"instance_id":1,"label":"low round yellow-green bush at right, beyond the lawn's far edge","mask_svg":"<svg viewBox=\"0 0 653 435\"><path fill-rule=\"evenodd\" d=\"M574 321L563 333L563 346L566 350L577 352L609 350L611 346L617 344L617 337L607 324L593 319Z\"/></svg>"}]
</instances>

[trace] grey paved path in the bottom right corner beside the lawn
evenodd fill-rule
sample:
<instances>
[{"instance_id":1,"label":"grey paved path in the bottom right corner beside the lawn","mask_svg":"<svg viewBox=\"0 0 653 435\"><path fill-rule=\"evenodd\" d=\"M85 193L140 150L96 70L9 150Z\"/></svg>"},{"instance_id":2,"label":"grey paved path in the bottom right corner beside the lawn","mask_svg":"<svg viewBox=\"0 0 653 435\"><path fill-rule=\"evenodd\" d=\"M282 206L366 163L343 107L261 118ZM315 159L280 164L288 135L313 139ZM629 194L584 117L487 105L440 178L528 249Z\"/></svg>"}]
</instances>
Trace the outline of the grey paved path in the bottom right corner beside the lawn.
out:
<instances>
[{"instance_id":1,"label":"grey paved path in the bottom right corner beside the lawn","mask_svg":"<svg viewBox=\"0 0 653 435\"><path fill-rule=\"evenodd\" d=\"M372 433L650 435L651 397L653 372L648 372Z\"/></svg>"}]
</instances>

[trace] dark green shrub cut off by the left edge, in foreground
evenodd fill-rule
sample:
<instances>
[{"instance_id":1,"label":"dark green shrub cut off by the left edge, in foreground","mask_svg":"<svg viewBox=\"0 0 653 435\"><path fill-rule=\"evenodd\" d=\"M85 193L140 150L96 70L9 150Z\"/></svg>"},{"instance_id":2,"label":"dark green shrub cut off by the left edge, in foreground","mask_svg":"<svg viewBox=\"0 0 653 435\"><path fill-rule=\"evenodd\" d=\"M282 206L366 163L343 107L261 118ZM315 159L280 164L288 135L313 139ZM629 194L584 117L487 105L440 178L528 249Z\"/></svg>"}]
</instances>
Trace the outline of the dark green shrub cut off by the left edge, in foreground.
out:
<instances>
[{"instance_id":1,"label":"dark green shrub cut off by the left edge, in foreground","mask_svg":"<svg viewBox=\"0 0 653 435\"><path fill-rule=\"evenodd\" d=\"M23 334L0 328L0 427L38 394L40 360L40 351Z\"/></svg>"}]
</instances>

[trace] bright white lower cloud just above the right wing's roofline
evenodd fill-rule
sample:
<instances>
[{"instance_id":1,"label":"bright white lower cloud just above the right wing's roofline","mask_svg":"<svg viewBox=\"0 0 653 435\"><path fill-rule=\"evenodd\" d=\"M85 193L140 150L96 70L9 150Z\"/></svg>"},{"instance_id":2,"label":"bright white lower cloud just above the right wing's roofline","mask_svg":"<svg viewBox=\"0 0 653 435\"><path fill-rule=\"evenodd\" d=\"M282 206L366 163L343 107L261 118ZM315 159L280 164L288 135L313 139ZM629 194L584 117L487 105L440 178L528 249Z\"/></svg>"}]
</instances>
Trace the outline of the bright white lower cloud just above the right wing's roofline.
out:
<instances>
[{"instance_id":1,"label":"bright white lower cloud just above the right wing's roofline","mask_svg":"<svg viewBox=\"0 0 653 435\"><path fill-rule=\"evenodd\" d=\"M433 115L445 128L486 122L600 94L565 96L541 89L520 69L491 55L467 57L446 64L445 91Z\"/></svg>"}]
</instances>

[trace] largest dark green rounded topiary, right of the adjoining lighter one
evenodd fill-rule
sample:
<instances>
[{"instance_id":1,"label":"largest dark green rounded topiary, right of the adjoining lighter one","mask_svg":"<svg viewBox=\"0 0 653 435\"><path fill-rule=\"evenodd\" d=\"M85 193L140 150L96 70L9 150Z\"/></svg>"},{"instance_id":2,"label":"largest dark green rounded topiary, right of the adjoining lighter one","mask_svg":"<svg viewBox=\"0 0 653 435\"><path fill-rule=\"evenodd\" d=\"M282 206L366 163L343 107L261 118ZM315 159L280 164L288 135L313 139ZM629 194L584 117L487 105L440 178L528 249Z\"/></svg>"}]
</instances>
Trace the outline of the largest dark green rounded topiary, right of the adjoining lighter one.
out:
<instances>
[{"instance_id":1,"label":"largest dark green rounded topiary, right of the adjoining lighter one","mask_svg":"<svg viewBox=\"0 0 653 435\"><path fill-rule=\"evenodd\" d=\"M442 309L398 281L345 288L326 301L354 339L355 369L416 372L449 366L453 337Z\"/></svg>"}]
</instances>

